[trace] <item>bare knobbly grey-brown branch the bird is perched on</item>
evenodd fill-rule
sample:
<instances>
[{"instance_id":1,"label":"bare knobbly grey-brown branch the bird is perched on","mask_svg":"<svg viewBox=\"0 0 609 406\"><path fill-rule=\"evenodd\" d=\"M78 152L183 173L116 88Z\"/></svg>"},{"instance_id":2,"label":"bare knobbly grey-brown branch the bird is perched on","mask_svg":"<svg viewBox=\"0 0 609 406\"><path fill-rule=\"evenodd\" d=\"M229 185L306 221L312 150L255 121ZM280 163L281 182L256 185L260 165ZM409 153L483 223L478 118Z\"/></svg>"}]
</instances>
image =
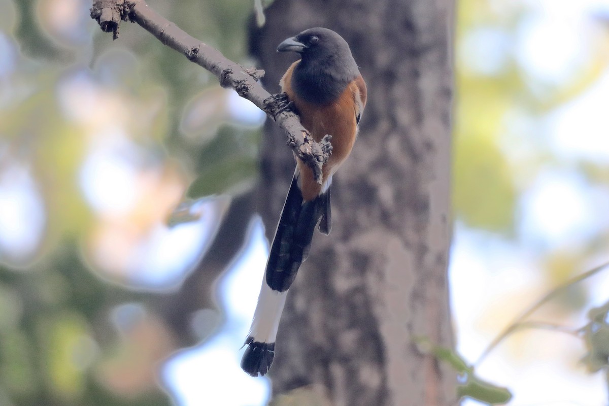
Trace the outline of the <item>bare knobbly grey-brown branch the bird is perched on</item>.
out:
<instances>
[{"instance_id":1,"label":"bare knobbly grey-brown branch the bird is perched on","mask_svg":"<svg viewBox=\"0 0 609 406\"><path fill-rule=\"evenodd\" d=\"M315 180L322 183L322 165L332 151L330 137L326 136L319 144L315 142L309 131L300 124L300 118L286 109L285 98L281 95L272 96L257 82L264 71L245 68L227 59L214 47L192 38L150 9L144 0L95 0L91 7L91 18L99 23L104 32L113 32L115 40L118 38L121 19L138 23L163 44L212 72L221 86L233 88L239 96L250 100L287 133L287 144L298 158L311 167Z\"/></svg>"}]
</instances>

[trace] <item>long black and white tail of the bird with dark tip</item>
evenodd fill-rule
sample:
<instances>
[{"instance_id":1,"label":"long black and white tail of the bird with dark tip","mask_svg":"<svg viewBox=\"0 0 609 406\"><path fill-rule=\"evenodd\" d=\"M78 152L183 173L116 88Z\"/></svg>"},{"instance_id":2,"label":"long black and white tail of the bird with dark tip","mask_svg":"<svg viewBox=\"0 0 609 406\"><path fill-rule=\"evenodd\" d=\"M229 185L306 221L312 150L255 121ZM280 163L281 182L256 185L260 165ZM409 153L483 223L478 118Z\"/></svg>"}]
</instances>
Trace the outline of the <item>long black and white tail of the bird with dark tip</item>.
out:
<instances>
[{"instance_id":1,"label":"long black and white tail of the bird with dark tip","mask_svg":"<svg viewBox=\"0 0 609 406\"><path fill-rule=\"evenodd\" d=\"M315 225L320 223L319 231L323 234L330 231L330 184L331 179L328 179L317 197L303 201L298 187L298 172L292 179L270 248L250 334L245 340L247 349L241 368L251 376L263 376L273 362L275 338L287 290L309 254Z\"/></svg>"}]
</instances>

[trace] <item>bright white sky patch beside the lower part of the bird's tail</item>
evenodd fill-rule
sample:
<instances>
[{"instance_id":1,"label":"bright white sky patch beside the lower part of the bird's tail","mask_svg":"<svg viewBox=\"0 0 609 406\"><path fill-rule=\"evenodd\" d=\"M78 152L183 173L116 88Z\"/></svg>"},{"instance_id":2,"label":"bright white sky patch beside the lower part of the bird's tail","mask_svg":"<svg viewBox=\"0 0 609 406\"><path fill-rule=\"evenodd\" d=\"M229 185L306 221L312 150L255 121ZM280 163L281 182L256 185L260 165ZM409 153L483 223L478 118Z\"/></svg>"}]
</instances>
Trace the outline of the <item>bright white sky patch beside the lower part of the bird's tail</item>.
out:
<instances>
[{"instance_id":1,"label":"bright white sky patch beside the lower part of the bird's tail","mask_svg":"<svg viewBox=\"0 0 609 406\"><path fill-rule=\"evenodd\" d=\"M252 221L248 235L246 247L217 283L225 324L202 345L178 352L163 370L181 405L267 404L269 379L253 379L239 366L269 251L260 219Z\"/></svg>"}]
</instances>

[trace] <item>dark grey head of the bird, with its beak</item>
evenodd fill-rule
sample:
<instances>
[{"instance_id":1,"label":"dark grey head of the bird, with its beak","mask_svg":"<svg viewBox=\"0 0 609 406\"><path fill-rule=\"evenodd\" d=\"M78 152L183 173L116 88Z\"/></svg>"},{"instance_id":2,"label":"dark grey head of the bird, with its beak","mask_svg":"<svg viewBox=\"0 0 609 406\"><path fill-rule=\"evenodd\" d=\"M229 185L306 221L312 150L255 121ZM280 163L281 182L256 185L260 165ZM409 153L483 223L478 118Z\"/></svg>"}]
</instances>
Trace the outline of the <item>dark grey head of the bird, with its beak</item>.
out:
<instances>
[{"instance_id":1,"label":"dark grey head of the bird, with its beak","mask_svg":"<svg viewBox=\"0 0 609 406\"><path fill-rule=\"evenodd\" d=\"M301 55L292 73L291 85L297 96L309 103L327 104L336 100L359 76L349 44L327 28L310 28L287 38L277 51Z\"/></svg>"}]
</instances>

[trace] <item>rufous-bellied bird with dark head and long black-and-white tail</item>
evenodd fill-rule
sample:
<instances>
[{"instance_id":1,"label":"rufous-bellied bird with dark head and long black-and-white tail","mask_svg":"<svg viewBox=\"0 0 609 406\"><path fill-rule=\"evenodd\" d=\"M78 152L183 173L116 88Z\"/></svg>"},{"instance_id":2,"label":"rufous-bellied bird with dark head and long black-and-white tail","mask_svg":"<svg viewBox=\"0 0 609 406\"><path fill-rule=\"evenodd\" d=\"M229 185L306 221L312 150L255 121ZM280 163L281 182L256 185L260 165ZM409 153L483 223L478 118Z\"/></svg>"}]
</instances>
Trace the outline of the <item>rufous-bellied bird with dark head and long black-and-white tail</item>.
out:
<instances>
[{"instance_id":1,"label":"rufous-bellied bird with dark head and long black-and-white tail","mask_svg":"<svg viewBox=\"0 0 609 406\"><path fill-rule=\"evenodd\" d=\"M258 304L247 339L241 368L250 376L264 376L275 357L275 338L287 290L309 253L315 227L329 234L332 177L347 159L357 137L366 104L367 88L351 49L338 33L315 27L287 38L278 52L297 52L300 60L280 80L290 108L316 142L331 135L332 152L322 166L322 183L296 157L294 177L271 244Z\"/></svg>"}]
</instances>

